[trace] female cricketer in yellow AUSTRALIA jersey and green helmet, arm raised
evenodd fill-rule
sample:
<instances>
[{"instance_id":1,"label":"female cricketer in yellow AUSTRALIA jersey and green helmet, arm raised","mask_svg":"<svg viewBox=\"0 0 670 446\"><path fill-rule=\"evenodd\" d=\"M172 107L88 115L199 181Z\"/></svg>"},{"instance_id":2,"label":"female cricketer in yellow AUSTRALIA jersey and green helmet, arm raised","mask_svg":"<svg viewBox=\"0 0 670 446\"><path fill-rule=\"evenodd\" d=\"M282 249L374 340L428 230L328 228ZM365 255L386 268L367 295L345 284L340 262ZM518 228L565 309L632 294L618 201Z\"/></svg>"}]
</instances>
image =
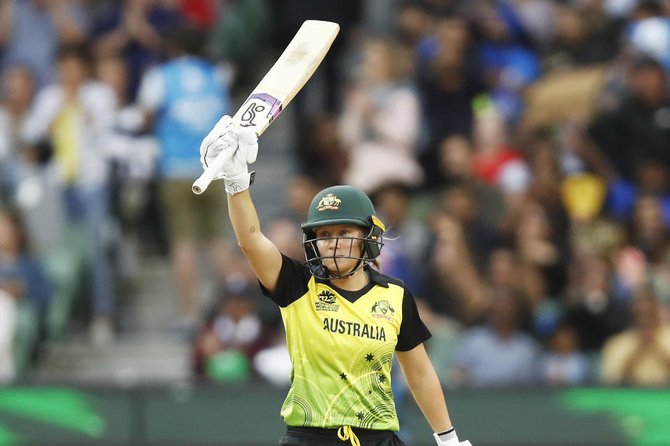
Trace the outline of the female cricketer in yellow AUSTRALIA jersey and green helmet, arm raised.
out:
<instances>
[{"instance_id":1,"label":"female cricketer in yellow AUSTRALIA jersey and green helmet, arm raised","mask_svg":"<svg viewBox=\"0 0 670 446\"><path fill-rule=\"evenodd\" d=\"M372 268L384 224L364 192L333 186L314 197L302 224L306 262L284 256L260 231L248 191L258 138L221 118L200 146L207 167L218 153L237 242L262 291L281 309L292 361L281 408L287 431L280 446L403 445L391 391L398 357L408 386L440 446L459 442L424 341L431 336L403 282Z\"/></svg>"}]
</instances>

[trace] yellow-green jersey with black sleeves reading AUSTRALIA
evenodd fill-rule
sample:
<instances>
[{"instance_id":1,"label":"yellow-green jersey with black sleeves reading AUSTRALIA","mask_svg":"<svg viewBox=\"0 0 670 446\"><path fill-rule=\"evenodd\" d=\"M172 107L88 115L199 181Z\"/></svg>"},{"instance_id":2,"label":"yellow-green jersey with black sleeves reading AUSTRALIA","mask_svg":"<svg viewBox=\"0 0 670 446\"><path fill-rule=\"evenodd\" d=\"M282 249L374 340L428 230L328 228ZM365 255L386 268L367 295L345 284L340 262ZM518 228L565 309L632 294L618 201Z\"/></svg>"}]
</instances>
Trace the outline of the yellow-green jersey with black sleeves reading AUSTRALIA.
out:
<instances>
[{"instance_id":1,"label":"yellow-green jersey with black sleeves reading AUSTRALIA","mask_svg":"<svg viewBox=\"0 0 670 446\"><path fill-rule=\"evenodd\" d=\"M281 408L290 426L399 430L391 391L394 351L429 339L410 292L366 267L370 284L345 291L283 256L274 293L293 364Z\"/></svg>"}]
</instances>

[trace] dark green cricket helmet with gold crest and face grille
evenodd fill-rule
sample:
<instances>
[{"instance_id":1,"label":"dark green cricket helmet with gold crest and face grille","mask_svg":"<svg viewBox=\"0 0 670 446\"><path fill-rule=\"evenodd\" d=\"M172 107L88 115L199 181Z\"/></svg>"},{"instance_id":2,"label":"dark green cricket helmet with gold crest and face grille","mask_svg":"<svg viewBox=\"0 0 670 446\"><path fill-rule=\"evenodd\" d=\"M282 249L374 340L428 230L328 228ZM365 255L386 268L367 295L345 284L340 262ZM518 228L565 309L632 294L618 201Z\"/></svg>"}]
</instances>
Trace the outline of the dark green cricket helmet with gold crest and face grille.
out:
<instances>
[{"instance_id":1,"label":"dark green cricket helmet with gold crest and face grille","mask_svg":"<svg viewBox=\"0 0 670 446\"><path fill-rule=\"evenodd\" d=\"M351 252L351 247L353 247L351 243L349 255L343 256L358 260L357 265L345 274L339 270L328 270L324 266L325 256L320 254L316 244L315 229L332 224L355 224L364 228L364 233L367 234L365 237L329 237L337 240L337 243L341 239L363 240L360 253ZM352 186L331 186L316 194L309 206L307 221L302 224L301 228L304 233L305 265L309 267L312 275L319 279L338 279L354 274L376 259L384 245L382 233L385 227L376 216L372 201L362 190Z\"/></svg>"}]
</instances>

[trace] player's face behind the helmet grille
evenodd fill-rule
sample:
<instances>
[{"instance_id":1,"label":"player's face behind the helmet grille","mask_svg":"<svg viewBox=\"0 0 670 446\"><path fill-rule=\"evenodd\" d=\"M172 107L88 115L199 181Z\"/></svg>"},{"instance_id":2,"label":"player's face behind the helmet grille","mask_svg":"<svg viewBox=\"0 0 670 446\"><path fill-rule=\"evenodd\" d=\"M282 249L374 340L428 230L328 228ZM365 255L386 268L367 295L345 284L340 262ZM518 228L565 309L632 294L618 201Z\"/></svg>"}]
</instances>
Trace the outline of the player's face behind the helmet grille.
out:
<instances>
[{"instance_id":1,"label":"player's face behind the helmet grille","mask_svg":"<svg viewBox=\"0 0 670 446\"><path fill-rule=\"evenodd\" d=\"M316 230L316 246L322 256L322 262L328 270L347 274L361 256L363 229L355 224L332 224L320 226Z\"/></svg>"}]
</instances>

